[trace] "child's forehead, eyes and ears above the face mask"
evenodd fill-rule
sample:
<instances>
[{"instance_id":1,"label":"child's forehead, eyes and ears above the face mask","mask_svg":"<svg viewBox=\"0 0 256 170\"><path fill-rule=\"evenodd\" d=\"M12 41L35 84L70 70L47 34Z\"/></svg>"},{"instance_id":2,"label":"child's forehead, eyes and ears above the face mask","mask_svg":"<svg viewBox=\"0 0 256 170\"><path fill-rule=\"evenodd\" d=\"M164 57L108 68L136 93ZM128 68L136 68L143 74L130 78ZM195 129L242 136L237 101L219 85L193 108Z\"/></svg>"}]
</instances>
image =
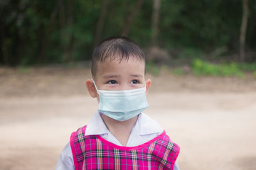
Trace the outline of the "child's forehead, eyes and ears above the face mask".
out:
<instances>
[{"instance_id":1,"label":"child's forehead, eyes and ears above the face mask","mask_svg":"<svg viewBox=\"0 0 256 170\"><path fill-rule=\"evenodd\" d=\"M142 88L146 85L146 92L149 90L151 80L145 80L145 64L134 57L128 61L106 60L97 63L97 74L95 84L98 90L121 91ZM90 96L97 97L97 91L93 82L87 80L87 89ZM90 92L91 91L91 92ZM95 93L96 92L96 93Z\"/></svg>"}]
</instances>

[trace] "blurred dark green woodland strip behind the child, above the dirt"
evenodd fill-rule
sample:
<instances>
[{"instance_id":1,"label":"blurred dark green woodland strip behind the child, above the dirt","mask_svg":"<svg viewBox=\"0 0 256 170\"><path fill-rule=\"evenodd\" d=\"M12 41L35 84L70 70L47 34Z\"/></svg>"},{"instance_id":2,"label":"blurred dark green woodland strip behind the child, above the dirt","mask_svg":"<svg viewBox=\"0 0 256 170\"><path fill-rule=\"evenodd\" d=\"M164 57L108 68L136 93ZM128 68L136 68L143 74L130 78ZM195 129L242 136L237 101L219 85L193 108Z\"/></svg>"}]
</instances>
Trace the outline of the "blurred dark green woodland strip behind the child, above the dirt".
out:
<instances>
[{"instance_id":1,"label":"blurred dark green woodland strip behind the child, above the dirt","mask_svg":"<svg viewBox=\"0 0 256 170\"><path fill-rule=\"evenodd\" d=\"M94 45L113 35L134 39L149 54L156 47L148 59L154 63L187 62L195 70L214 68L203 61L253 63L255 21L256 0L4 0L0 64L90 60ZM241 75L236 69L245 64L213 70L228 66Z\"/></svg>"}]
</instances>

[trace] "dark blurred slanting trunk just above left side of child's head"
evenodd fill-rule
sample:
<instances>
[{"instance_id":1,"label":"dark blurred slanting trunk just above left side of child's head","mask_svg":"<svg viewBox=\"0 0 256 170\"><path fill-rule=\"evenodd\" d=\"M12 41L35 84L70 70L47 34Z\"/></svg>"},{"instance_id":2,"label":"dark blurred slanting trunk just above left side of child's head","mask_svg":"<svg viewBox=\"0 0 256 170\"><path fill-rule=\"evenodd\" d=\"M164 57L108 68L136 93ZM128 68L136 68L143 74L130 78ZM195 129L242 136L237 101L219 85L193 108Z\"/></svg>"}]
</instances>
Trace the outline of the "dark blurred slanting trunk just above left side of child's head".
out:
<instances>
[{"instance_id":1,"label":"dark blurred slanting trunk just above left side of child's head","mask_svg":"<svg viewBox=\"0 0 256 170\"><path fill-rule=\"evenodd\" d=\"M110 0L104 0L102 2L102 8L100 11L100 18L97 21L97 27L95 32L95 45L97 45L98 42L100 42L101 36L102 36L102 30L105 22L105 18L107 16L107 6L110 4Z\"/></svg>"}]
</instances>

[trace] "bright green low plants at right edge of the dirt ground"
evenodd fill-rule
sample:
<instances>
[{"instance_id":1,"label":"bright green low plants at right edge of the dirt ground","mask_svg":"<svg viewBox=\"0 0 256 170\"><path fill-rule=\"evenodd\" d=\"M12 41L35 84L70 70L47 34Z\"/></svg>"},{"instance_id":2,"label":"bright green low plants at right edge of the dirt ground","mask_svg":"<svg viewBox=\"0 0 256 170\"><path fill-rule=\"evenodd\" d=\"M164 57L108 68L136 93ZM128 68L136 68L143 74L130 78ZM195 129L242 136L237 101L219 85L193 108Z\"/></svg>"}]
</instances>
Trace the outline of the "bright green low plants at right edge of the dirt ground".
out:
<instances>
[{"instance_id":1,"label":"bright green low plants at right edge of the dirt ground","mask_svg":"<svg viewBox=\"0 0 256 170\"><path fill-rule=\"evenodd\" d=\"M193 74L195 75L210 75L213 77L244 77L244 74L239 69L236 63L211 64L203 62L203 60L196 59L192 64Z\"/></svg>"}]
</instances>

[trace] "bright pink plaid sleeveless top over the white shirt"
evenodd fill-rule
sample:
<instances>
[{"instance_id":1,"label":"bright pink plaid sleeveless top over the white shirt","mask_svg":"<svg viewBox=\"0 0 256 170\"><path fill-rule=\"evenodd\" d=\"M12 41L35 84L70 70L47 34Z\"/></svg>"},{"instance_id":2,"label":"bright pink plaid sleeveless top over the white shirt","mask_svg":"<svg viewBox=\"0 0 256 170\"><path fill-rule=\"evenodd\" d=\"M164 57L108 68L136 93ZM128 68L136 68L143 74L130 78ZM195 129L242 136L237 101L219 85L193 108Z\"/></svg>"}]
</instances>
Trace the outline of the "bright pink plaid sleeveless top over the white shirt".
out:
<instances>
[{"instance_id":1,"label":"bright pink plaid sleeveless top over the white shirt","mask_svg":"<svg viewBox=\"0 0 256 170\"><path fill-rule=\"evenodd\" d=\"M75 169L174 169L180 148L163 132L137 147L120 147L100 135L85 136L86 126L73 132L70 146Z\"/></svg>"}]
</instances>

